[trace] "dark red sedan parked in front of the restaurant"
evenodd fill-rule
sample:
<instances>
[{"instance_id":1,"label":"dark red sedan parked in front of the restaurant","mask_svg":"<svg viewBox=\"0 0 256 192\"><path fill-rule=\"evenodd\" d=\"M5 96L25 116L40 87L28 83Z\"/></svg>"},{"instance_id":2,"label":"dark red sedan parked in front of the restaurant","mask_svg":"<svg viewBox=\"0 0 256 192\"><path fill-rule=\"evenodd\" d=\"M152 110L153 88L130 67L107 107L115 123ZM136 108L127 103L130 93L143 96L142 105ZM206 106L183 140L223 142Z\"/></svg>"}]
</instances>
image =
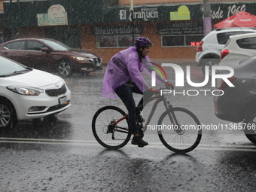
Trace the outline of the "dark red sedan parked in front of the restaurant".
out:
<instances>
[{"instance_id":1,"label":"dark red sedan parked in front of the restaurant","mask_svg":"<svg viewBox=\"0 0 256 192\"><path fill-rule=\"evenodd\" d=\"M62 77L102 69L102 59L87 50L76 50L49 38L20 38L0 44L0 55L25 66Z\"/></svg>"}]
</instances>

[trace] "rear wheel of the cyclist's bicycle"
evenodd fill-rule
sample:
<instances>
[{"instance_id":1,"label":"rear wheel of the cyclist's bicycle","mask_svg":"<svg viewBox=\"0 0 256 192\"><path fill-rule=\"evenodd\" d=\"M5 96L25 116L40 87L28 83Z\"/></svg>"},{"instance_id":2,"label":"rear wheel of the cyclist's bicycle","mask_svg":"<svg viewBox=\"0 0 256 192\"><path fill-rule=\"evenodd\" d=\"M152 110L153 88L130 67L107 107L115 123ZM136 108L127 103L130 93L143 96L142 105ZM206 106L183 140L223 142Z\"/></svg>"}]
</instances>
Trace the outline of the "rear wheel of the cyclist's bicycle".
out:
<instances>
[{"instance_id":1,"label":"rear wheel of the cyclist's bicycle","mask_svg":"<svg viewBox=\"0 0 256 192\"><path fill-rule=\"evenodd\" d=\"M129 131L126 113L115 106L105 106L93 116L93 136L105 148L123 148L129 142ZM120 120L123 118L123 120ZM117 122L120 120L119 122Z\"/></svg>"}]
</instances>

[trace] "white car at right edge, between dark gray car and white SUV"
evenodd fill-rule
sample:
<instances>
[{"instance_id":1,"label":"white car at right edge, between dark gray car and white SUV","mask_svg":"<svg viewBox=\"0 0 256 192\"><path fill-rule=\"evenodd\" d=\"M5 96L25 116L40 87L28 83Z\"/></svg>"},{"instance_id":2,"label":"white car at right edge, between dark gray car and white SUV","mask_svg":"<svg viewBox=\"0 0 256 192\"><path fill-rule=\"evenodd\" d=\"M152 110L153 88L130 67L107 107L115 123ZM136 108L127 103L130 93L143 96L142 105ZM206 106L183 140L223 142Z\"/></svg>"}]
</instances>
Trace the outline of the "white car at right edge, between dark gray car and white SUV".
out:
<instances>
[{"instance_id":1,"label":"white car at right edge, between dark gray car and white SUV","mask_svg":"<svg viewBox=\"0 0 256 192\"><path fill-rule=\"evenodd\" d=\"M221 51L221 63L256 55L256 33L230 36ZM220 63L220 64L221 64Z\"/></svg>"}]
</instances>

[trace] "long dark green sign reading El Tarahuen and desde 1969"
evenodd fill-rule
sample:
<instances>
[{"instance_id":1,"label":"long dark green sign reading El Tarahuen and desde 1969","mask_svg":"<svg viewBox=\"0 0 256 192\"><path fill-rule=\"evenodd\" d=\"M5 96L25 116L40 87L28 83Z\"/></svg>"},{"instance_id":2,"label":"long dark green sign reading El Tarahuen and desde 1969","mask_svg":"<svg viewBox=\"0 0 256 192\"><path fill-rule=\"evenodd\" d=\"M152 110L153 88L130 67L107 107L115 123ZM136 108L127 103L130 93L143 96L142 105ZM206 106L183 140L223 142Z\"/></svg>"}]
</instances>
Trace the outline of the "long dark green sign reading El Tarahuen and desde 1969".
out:
<instances>
[{"instance_id":1,"label":"long dark green sign reading El Tarahuen and desde 1969","mask_svg":"<svg viewBox=\"0 0 256 192\"><path fill-rule=\"evenodd\" d=\"M256 15L255 2L212 3L212 20L224 20L239 11ZM130 7L111 8L113 22L131 21ZM190 5L157 5L134 8L134 21L163 21L163 20L203 20L203 4Z\"/></svg>"}]
</instances>

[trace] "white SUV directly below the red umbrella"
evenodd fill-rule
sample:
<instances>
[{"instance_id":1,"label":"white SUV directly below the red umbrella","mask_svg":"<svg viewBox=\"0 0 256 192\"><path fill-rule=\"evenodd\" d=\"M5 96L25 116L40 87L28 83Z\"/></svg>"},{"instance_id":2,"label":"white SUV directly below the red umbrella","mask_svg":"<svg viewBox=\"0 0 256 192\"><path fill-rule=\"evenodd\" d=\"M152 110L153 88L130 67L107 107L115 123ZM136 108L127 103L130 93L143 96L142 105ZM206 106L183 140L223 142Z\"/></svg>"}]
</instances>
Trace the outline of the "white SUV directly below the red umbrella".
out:
<instances>
[{"instance_id":1,"label":"white SUV directly below the red umbrella","mask_svg":"<svg viewBox=\"0 0 256 192\"><path fill-rule=\"evenodd\" d=\"M209 66L211 70L211 66L217 66L221 61L221 50L227 43L230 35L252 32L256 32L256 29L248 27L232 27L213 30L200 41L200 44L197 47L197 66L203 67L203 74L205 73L205 66Z\"/></svg>"}]
</instances>

